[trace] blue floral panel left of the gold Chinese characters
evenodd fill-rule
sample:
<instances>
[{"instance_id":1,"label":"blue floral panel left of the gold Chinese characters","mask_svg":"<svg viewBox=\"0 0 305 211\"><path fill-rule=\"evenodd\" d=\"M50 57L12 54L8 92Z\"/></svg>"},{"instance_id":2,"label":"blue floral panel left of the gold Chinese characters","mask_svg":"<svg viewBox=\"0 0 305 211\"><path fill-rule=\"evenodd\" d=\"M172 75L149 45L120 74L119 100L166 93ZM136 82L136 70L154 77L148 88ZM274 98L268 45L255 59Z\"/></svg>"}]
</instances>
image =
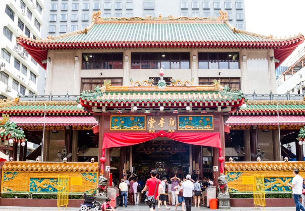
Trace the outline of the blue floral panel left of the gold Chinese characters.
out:
<instances>
[{"instance_id":1,"label":"blue floral panel left of the gold Chinese characters","mask_svg":"<svg viewBox=\"0 0 305 211\"><path fill-rule=\"evenodd\" d=\"M145 131L145 116L110 116L110 130Z\"/></svg>"}]
</instances>

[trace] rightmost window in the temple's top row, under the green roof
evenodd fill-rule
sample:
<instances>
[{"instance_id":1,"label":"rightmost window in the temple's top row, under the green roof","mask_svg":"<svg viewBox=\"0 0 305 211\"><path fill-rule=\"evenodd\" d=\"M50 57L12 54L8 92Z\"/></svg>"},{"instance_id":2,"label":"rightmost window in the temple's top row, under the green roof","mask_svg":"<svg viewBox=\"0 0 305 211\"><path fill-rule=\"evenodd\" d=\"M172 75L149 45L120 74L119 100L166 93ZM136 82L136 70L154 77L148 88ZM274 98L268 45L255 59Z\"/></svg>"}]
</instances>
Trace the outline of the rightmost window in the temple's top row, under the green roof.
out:
<instances>
[{"instance_id":1,"label":"rightmost window in the temple's top row, under the green roof","mask_svg":"<svg viewBox=\"0 0 305 211\"><path fill-rule=\"evenodd\" d=\"M239 53L198 53L198 69L239 69Z\"/></svg>"}]
</instances>

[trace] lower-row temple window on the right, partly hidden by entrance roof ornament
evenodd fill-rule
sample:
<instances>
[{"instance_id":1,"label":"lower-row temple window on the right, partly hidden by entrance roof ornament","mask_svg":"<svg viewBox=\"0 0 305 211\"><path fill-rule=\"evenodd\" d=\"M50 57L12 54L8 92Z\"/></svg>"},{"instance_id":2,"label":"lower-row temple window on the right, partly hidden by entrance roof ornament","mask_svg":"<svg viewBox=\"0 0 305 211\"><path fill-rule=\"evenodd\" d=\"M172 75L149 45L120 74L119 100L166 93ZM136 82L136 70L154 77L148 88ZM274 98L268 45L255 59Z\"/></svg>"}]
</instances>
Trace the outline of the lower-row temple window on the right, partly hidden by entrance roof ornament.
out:
<instances>
[{"instance_id":1,"label":"lower-row temple window on the right, partly hidden by entrance roof ornament","mask_svg":"<svg viewBox=\"0 0 305 211\"><path fill-rule=\"evenodd\" d=\"M222 86L227 85L231 90L240 90L240 78L199 78L199 85L213 85L213 80L220 80Z\"/></svg>"}]
</instances>

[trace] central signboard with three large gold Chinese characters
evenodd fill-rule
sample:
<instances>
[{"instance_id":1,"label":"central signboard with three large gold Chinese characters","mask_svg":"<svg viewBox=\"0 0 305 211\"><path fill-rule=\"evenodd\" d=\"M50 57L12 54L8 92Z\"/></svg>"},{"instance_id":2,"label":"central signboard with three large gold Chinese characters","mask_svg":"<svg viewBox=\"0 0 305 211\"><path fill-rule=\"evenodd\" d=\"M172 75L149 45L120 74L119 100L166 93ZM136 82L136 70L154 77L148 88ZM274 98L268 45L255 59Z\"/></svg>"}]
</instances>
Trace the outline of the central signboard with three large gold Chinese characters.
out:
<instances>
[{"instance_id":1,"label":"central signboard with three large gold Chinese characters","mask_svg":"<svg viewBox=\"0 0 305 211\"><path fill-rule=\"evenodd\" d=\"M176 130L176 116L147 116L146 130Z\"/></svg>"}]
</instances>

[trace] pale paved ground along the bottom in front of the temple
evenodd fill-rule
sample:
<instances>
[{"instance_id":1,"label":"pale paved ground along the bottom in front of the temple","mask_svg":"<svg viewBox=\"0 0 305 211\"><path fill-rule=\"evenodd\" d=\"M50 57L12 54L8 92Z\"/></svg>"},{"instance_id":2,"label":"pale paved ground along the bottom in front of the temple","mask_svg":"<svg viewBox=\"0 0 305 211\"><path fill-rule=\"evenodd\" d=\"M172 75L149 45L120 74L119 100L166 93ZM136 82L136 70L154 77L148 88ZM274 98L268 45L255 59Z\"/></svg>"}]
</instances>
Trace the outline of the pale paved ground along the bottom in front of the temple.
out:
<instances>
[{"instance_id":1,"label":"pale paved ground along the bottom in front of the temple","mask_svg":"<svg viewBox=\"0 0 305 211\"><path fill-rule=\"evenodd\" d=\"M165 211L164 206L162 206L162 210ZM181 208L181 207L180 207ZM0 206L1 211L10 211L10 210L19 210L19 211L38 211L38 210L48 210L48 211L58 211L58 208L55 207L14 207L14 206ZM60 208L60 210L63 211L79 211L79 208ZM174 210L173 207L170 208L170 210ZM211 209L207 208L195 208L192 207L192 211L207 211ZM223 211L254 211L254 210L263 210L263 208L260 209L253 209L251 207L232 207L231 209L217 209L217 210L223 210ZM295 207L266 207L265 210L271 210L271 211L295 211ZM92 210L91 210L92 211ZM148 206L146 205L140 205L140 206L134 206L134 205L128 205L126 208L125 207L117 207L116 211L149 211ZM178 211L181 211L181 209L178 209Z\"/></svg>"}]
</instances>

